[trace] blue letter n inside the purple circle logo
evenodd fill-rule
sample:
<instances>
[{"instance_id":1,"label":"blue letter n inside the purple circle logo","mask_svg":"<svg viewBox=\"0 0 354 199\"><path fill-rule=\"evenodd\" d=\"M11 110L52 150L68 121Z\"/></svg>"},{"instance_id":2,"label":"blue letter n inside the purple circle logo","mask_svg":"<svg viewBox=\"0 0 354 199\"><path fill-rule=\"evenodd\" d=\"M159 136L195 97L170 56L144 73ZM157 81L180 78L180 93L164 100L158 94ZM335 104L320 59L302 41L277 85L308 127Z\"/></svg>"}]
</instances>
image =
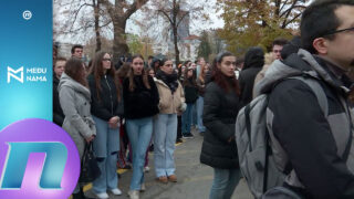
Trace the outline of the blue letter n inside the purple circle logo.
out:
<instances>
[{"instance_id":1,"label":"blue letter n inside the purple circle logo","mask_svg":"<svg viewBox=\"0 0 354 199\"><path fill-rule=\"evenodd\" d=\"M9 150L1 189L20 189L31 153L45 153L40 187L60 189L67 159L67 149L62 143L8 143Z\"/></svg>"}]
</instances>

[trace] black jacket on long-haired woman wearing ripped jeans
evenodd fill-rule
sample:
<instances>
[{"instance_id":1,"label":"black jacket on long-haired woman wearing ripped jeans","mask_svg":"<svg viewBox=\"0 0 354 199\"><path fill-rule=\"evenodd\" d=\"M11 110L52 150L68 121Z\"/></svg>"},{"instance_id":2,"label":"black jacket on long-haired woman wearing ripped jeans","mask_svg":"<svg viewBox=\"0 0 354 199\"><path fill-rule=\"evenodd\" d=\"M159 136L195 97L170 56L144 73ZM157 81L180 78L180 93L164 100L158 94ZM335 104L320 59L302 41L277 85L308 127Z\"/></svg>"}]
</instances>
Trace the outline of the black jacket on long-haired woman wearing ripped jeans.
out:
<instances>
[{"instance_id":1,"label":"black jacket on long-haired woman wearing ripped jeans","mask_svg":"<svg viewBox=\"0 0 354 199\"><path fill-rule=\"evenodd\" d=\"M97 96L96 81L94 75L91 74L87 77L88 86L91 92L91 113L92 115L108 122L114 116L122 117L124 114L123 98L121 92L121 101L118 102L118 96L116 92L116 86L114 80L110 75L104 75L101 78L101 92Z\"/></svg>"}]
</instances>

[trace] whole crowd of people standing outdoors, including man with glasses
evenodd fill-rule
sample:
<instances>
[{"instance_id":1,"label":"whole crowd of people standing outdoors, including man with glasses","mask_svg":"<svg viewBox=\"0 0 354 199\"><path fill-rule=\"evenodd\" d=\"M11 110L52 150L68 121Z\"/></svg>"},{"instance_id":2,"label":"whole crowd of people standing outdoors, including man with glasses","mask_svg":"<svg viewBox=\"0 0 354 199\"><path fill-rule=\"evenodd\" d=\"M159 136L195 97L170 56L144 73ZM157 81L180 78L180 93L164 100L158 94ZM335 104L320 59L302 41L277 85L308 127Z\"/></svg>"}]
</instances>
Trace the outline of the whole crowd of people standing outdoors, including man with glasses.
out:
<instances>
[{"instance_id":1,"label":"whole crowd of people standing outdoors, including man with glasses","mask_svg":"<svg viewBox=\"0 0 354 199\"><path fill-rule=\"evenodd\" d=\"M281 187L299 198L354 198L353 102L348 101L353 15L352 0L316 0L302 14L301 36L274 40L269 53L259 46L243 57L221 52L210 64L199 57L174 66L169 59L149 56L145 62L142 55L114 64L110 53L98 52L86 66L81 60L83 46L74 45L72 57L54 61L53 121L72 136L81 158L85 145L93 143L101 169L93 181L98 198L108 198L107 191L122 195L116 169L132 165L127 193L138 199L146 189L149 150L156 179L177 182L175 144L199 132L200 163L214 168L209 198L230 199L243 176L237 116L253 98L267 94L269 147L280 151L272 156L285 175ZM277 76L282 66L314 80L324 92L327 111L304 82ZM82 187L79 182L74 199L85 198ZM285 196L279 190L275 195Z\"/></svg>"}]
</instances>

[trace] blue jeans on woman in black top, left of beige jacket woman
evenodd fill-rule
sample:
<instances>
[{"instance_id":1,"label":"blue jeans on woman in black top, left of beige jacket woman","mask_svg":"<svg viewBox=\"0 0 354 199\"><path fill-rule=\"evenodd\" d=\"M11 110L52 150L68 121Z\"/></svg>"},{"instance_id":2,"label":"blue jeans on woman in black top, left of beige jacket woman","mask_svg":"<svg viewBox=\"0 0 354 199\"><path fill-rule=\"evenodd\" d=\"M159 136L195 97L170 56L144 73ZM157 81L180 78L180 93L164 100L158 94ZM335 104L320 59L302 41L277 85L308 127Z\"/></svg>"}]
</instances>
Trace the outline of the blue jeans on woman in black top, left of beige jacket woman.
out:
<instances>
[{"instance_id":1,"label":"blue jeans on woman in black top, left of beige jacket woman","mask_svg":"<svg viewBox=\"0 0 354 199\"><path fill-rule=\"evenodd\" d=\"M140 190L144 182L145 155L153 134L153 117L126 119L126 130L133 150L131 190Z\"/></svg>"}]
</instances>

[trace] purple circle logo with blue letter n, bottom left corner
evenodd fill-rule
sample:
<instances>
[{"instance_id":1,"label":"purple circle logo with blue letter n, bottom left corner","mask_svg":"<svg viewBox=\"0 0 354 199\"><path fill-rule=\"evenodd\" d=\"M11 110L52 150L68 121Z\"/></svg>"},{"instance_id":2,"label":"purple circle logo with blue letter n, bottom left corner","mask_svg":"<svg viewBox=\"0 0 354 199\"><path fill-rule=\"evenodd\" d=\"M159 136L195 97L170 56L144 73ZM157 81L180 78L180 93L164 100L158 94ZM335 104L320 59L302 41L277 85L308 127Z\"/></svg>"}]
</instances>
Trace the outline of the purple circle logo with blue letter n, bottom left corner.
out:
<instances>
[{"instance_id":1,"label":"purple circle logo with blue letter n, bottom left corner","mask_svg":"<svg viewBox=\"0 0 354 199\"><path fill-rule=\"evenodd\" d=\"M74 142L44 119L23 119L0 132L0 198L69 198L80 176Z\"/></svg>"}]
</instances>

